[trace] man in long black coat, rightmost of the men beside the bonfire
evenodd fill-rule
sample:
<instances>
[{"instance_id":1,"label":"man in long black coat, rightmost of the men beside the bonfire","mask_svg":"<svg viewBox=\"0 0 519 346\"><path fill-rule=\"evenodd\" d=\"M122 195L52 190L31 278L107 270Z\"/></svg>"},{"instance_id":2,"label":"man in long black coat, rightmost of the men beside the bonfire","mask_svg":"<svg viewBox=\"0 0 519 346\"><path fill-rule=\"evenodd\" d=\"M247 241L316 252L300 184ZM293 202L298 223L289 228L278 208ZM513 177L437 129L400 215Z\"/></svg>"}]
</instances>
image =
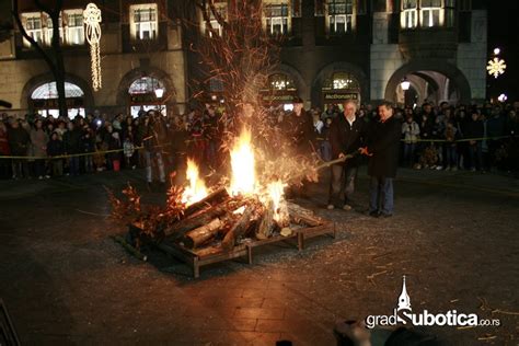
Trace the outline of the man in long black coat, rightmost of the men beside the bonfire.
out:
<instances>
[{"instance_id":1,"label":"man in long black coat, rightmost of the men beside the bonfire","mask_svg":"<svg viewBox=\"0 0 519 346\"><path fill-rule=\"evenodd\" d=\"M369 157L368 175L369 215L391 217L393 215L393 178L399 164L402 124L393 116L393 106L384 102L379 106L378 122L371 124L368 147L362 153Z\"/></svg>"}]
</instances>

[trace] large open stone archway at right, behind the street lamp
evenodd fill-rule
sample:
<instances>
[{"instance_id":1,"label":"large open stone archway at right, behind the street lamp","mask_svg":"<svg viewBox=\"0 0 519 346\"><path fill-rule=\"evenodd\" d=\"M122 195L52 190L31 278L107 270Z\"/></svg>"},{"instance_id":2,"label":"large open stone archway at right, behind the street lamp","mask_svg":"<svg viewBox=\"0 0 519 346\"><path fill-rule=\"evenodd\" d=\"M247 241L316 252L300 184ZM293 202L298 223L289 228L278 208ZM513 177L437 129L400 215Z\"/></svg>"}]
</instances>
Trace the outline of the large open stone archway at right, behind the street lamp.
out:
<instances>
[{"instance_id":1,"label":"large open stone archway at right, behind the street lamp","mask_svg":"<svg viewBox=\"0 0 519 346\"><path fill-rule=\"evenodd\" d=\"M420 95L416 100L418 104L424 102L440 104L443 101L451 104L471 102L469 81L455 66L445 60L418 60L404 65L388 81L385 100L404 103L399 95L400 83L404 78L412 81L413 89Z\"/></svg>"}]
</instances>

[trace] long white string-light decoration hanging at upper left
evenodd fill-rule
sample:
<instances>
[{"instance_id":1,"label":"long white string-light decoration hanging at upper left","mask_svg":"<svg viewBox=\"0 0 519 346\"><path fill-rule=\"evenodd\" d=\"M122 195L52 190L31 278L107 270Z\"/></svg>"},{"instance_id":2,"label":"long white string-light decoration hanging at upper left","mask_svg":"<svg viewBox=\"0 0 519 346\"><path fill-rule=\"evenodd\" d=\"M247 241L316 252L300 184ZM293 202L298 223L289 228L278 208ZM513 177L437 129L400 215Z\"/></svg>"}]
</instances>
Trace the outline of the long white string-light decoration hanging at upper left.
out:
<instances>
[{"instance_id":1,"label":"long white string-light decoration hanging at upper left","mask_svg":"<svg viewBox=\"0 0 519 346\"><path fill-rule=\"evenodd\" d=\"M89 3L83 11L83 23L86 25L85 36L90 44L90 61L92 65L92 88L101 89L101 10L95 3Z\"/></svg>"}]
</instances>

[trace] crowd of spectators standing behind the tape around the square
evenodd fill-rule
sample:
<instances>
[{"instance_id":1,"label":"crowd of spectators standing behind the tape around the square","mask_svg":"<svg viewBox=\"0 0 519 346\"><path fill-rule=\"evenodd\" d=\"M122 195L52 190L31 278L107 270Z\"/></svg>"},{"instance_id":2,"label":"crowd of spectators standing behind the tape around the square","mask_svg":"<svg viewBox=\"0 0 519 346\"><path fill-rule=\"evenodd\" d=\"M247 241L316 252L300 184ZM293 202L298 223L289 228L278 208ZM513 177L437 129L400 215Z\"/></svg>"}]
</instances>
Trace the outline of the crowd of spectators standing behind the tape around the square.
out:
<instances>
[{"instance_id":1,"label":"crowd of spectators standing behind the tape around the square","mask_svg":"<svg viewBox=\"0 0 519 346\"><path fill-rule=\"evenodd\" d=\"M379 117L371 105L355 108L356 117L364 124ZM518 111L519 103L455 107L425 103L395 108L394 117L402 124L400 164L414 169L517 172ZM311 137L324 161L334 158L331 126L344 112L343 105L332 104L324 111L303 112L301 119L313 124L313 134L305 138ZM293 119L300 120L289 116L292 113L280 107L268 112L272 125L281 128L281 136L295 126ZM209 105L168 117L153 111L141 112L138 117L94 113L73 119L3 114L0 176L48 178L147 168L151 182L154 161L159 180L164 182L164 166L165 171L176 166L186 153L208 166L217 165L222 132L219 117L219 109Z\"/></svg>"}]
</instances>

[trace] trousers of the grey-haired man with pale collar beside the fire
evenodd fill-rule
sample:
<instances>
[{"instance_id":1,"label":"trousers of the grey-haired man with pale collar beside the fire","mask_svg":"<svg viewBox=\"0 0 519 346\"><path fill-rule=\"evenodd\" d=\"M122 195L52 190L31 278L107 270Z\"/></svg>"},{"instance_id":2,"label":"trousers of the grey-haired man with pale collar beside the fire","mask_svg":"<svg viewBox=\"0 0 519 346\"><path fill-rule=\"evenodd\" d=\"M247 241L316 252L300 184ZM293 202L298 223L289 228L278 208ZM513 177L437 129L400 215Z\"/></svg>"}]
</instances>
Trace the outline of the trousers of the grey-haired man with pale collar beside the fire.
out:
<instances>
[{"instance_id":1,"label":"trousers of the grey-haired man with pale collar beside the fire","mask_svg":"<svg viewBox=\"0 0 519 346\"><path fill-rule=\"evenodd\" d=\"M350 201L355 192L355 178L357 166L332 165L332 178L330 180L328 204L343 207Z\"/></svg>"}]
</instances>

